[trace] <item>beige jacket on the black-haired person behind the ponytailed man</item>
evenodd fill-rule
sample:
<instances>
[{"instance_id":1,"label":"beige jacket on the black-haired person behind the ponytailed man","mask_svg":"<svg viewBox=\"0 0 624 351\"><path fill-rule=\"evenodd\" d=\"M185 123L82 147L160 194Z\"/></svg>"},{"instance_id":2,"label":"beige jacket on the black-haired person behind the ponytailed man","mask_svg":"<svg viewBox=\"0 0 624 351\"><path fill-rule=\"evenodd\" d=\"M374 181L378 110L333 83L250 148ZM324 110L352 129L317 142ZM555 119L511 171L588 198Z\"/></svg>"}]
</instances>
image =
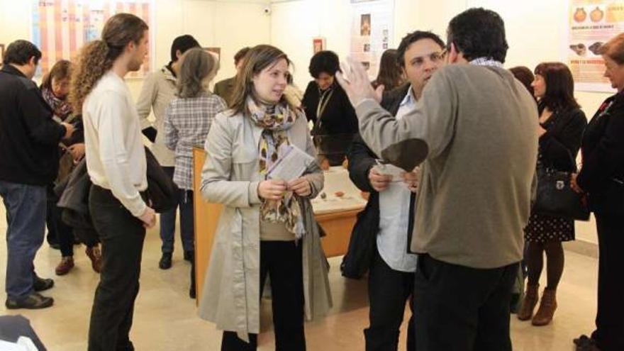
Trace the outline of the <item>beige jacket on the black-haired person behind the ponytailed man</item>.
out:
<instances>
[{"instance_id":1,"label":"beige jacket on the black-haired person behind the ponytailed man","mask_svg":"<svg viewBox=\"0 0 624 351\"><path fill-rule=\"evenodd\" d=\"M175 93L176 78L165 66L145 77L137 101L141 130L152 126L147 117L150 116L152 108L154 109L156 121L153 127L158 133L151 150L162 167L174 167L175 165L174 152L165 145L165 111L169 107L169 103L175 98Z\"/></svg>"}]
</instances>

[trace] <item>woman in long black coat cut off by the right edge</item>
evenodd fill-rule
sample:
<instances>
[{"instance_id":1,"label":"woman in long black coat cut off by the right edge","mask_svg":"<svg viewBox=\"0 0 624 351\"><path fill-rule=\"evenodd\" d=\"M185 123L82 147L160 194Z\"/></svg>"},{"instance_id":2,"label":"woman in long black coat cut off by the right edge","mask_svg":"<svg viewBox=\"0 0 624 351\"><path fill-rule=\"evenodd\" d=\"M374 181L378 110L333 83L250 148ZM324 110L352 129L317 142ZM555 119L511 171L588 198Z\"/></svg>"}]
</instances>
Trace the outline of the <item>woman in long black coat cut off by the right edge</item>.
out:
<instances>
[{"instance_id":1,"label":"woman in long black coat cut off by the right edge","mask_svg":"<svg viewBox=\"0 0 624 351\"><path fill-rule=\"evenodd\" d=\"M598 230L598 312L577 350L624 350L624 34L601 48L604 76L618 94L606 99L583 135L583 166L572 187L588 195ZM593 347L593 348L592 348Z\"/></svg>"}]
</instances>

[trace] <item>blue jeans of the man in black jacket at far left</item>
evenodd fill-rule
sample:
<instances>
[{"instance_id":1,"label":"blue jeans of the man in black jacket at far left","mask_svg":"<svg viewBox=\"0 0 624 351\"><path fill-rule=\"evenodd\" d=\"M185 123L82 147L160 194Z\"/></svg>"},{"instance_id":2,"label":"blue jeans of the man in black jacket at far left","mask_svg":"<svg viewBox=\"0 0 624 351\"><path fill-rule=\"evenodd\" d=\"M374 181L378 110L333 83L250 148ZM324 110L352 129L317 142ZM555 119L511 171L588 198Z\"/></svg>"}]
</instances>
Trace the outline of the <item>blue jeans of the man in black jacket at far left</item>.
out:
<instances>
[{"instance_id":1,"label":"blue jeans of the man in black jacket at far left","mask_svg":"<svg viewBox=\"0 0 624 351\"><path fill-rule=\"evenodd\" d=\"M45 186L0 180L6 208L6 296L21 300L33 293L35 255L45 233Z\"/></svg>"}]
</instances>

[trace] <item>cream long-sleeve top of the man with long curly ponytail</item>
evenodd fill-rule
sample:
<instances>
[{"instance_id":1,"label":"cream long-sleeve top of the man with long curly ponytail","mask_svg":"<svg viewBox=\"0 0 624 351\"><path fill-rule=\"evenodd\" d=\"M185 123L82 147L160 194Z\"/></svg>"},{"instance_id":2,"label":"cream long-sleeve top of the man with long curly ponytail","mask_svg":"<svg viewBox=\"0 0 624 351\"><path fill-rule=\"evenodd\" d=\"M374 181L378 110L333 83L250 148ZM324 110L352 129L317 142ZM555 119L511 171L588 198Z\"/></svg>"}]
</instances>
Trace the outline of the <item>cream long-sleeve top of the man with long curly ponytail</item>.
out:
<instances>
[{"instance_id":1,"label":"cream long-sleeve top of the man with long curly ponytail","mask_svg":"<svg viewBox=\"0 0 624 351\"><path fill-rule=\"evenodd\" d=\"M91 182L109 189L124 207L140 216L147 205L147 164L138 114L123 79L112 71L82 105L87 169Z\"/></svg>"}]
</instances>

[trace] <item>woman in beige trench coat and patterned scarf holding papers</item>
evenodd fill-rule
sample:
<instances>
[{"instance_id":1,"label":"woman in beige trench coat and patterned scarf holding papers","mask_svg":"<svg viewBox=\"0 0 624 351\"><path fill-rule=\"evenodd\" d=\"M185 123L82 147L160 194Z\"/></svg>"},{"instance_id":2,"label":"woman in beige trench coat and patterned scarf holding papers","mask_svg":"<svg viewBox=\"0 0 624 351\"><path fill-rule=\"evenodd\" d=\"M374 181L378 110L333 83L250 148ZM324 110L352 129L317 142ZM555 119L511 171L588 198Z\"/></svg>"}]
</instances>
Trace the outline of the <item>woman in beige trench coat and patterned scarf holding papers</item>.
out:
<instances>
[{"instance_id":1,"label":"woman in beige trench coat and patterned scarf holding papers","mask_svg":"<svg viewBox=\"0 0 624 351\"><path fill-rule=\"evenodd\" d=\"M311 320L331 307L328 267L310 204L323 189L323 172L310 162L298 179L267 179L291 145L316 158L306 117L284 99L289 65L277 48L252 48L231 109L216 116L206 140L201 194L225 207L199 314L224 330L221 350L256 350L267 275L276 350L305 350L304 316Z\"/></svg>"}]
</instances>

